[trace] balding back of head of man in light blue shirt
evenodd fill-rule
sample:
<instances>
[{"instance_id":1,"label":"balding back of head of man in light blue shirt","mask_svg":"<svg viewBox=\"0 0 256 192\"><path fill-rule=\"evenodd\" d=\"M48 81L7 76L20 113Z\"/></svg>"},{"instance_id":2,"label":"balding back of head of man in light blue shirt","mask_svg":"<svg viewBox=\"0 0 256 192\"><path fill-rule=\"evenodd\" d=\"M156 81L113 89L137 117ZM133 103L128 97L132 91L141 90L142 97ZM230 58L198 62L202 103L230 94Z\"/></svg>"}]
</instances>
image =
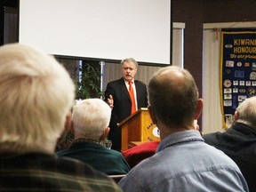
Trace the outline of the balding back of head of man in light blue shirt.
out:
<instances>
[{"instance_id":1,"label":"balding back of head of man in light blue shirt","mask_svg":"<svg viewBox=\"0 0 256 192\"><path fill-rule=\"evenodd\" d=\"M193 124L198 91L193 76L179 67L165 67L148 84L150 106L163 124L172 128Z\"/></svg>"}]
</instances>

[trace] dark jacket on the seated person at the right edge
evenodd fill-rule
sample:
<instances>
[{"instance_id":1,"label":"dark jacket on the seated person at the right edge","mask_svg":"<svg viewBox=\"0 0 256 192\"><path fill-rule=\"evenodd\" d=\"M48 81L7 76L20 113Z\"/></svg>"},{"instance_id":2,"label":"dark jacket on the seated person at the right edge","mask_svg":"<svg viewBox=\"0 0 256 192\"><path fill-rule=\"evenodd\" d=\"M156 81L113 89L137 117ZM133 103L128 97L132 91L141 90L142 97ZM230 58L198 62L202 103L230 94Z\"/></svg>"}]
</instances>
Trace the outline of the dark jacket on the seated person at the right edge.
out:
<instances>
[{"instance_id":1,"label":"dark jacket on the seated person at the right edge","mask_svg":"<svg viewBox=\"0 0 256 192\"><path fill-rule=\"evenodd\" d=\"M209 145L222 150L238 165L251 192L256 192L256 130L241 123L226 132L204 134Z\"/></svg>"}]
</instances>

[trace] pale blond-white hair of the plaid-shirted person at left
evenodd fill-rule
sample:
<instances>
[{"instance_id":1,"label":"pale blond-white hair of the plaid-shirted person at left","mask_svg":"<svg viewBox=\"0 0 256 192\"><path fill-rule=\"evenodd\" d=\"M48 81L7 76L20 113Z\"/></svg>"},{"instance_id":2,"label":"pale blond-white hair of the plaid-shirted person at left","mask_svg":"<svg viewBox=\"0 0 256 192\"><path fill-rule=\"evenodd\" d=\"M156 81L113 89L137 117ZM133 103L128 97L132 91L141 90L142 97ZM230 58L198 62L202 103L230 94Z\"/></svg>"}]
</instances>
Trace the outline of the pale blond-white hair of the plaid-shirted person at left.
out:
<instances>
[{"instance_id":1,"label":"pale blond-white hair of the plaid-shirted person at left","mask_svg":"<svg viewBox=\"0 0 256 192\"><path fill-rule=\"evenodd\" d=\"M0 149L54 145L74 104L68 72L52 56L24 44L0 47L0 58Z\"/></svg>"}]
</instances>

